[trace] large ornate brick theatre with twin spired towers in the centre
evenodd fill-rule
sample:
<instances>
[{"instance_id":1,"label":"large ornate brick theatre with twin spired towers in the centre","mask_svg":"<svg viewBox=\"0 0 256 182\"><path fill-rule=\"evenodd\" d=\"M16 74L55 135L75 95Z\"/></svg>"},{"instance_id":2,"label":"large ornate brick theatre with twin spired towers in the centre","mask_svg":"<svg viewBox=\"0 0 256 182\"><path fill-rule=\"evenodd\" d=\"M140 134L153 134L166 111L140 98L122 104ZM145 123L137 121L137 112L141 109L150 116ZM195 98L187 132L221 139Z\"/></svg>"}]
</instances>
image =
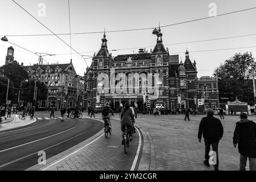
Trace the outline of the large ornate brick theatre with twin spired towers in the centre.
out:
<instances>
[{"instance_id":1,"label":"large ornate brick theatre with twin spired towers in the centre","mask_svg":"<svg viewBox=\"0 0 256 182\"><path fill-rule=\"evenodd\" d=\"M192 63L189 52L185 52L183 63L179 55L170 55L164 47L160 27L155 28L153 34L157 39L150 52L139 49L138 53L113 57L104 33L100 51L94 53L92 64L85 73L86 106L102 106L109 102L112 109L117 110L130 102L139 112L152 107L197 109L198 99L205 92L203 85L211 88L205 101L218 105L217 78L198 79L196 61Z\"/></svg>"}]
</instances>

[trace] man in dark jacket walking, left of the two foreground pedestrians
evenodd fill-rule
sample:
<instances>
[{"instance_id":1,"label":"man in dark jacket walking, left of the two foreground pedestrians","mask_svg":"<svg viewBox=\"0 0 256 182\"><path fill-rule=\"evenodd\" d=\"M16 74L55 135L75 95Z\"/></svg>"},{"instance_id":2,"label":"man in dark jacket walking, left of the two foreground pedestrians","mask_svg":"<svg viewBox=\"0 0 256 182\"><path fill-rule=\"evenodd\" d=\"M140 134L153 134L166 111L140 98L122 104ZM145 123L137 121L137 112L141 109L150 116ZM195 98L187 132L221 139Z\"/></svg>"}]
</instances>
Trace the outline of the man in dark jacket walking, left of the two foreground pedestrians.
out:
<instances>
[{"instance_id":1,"label":"man in dark jacket walking, left of the two foreground pedestrians","mask_svg":"<svg viewBox=\"0 0 256 182\"><path fill-rule=\"evenodd\" d=\"M205 160L204 164L210 166L209 164L209 152L210 145L212 145L212 150L216 152L216 164L214 164L214 171L218 171L218 142L223 136L223 126L220 119L213 117L213 109L207 110L207 117L201 119L198 131L198 140L201 143L202 134L205 143Z\"/></svg>"}]
</instances>

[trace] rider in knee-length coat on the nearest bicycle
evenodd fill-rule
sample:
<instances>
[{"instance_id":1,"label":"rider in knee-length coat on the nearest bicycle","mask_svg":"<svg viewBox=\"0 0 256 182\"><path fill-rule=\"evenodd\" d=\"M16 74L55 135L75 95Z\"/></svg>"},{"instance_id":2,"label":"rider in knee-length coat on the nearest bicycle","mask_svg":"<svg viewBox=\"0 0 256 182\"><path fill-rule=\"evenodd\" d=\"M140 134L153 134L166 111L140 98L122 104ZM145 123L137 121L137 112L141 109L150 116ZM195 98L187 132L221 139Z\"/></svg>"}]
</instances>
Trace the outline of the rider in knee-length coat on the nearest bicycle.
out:
<instances>
[{"instance_id":1,"label":"rider in knee-length coat on the nearest bicycle","mask_svg":"<svg viewBox=\"0 0 256 182\"><path fill-rule=\"evenodd\" d=\"M133 111L130 109L129 102L126 102L125 107L123 107L121 112L121 131L125 131L125 125L127 125L130 134L130 141L133 140L132 136L134 133L134 127L132 122L134 122Z\"/></svg>"}]
</instances>

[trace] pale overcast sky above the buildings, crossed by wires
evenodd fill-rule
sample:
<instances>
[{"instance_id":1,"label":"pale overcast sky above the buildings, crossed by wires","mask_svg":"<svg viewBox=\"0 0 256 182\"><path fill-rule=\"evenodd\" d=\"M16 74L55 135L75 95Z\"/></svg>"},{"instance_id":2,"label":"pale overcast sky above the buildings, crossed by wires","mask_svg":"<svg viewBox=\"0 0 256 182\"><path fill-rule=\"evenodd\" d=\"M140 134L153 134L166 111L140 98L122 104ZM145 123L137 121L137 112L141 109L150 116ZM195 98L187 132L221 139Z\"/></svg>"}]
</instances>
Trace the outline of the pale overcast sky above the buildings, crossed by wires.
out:
<instances>
[{"instance_id":1,"label":"pale overcast sky above the buildings, crossed by wires","mask_svg":"<svg viewBox=\"0 0 256 182\"><path fill-rule=\"evenodd\" d=\"M46 25L56 34L69 33L68 0L15 0L34 15L40 22ZM133 28L154 28L209 17L209 4L215 3L217 15L232 11L256 7L255 0L69 0L71 11L71 32L98 32L113 30L126 30ZM46 5L46 16L42 16L40 3ZM241 36L256 34L256 9L243 11L236 14L217 16L210 19L189 22L175 26L163 27L163 43L177 45L166 46L171 55L179 54L182 60L188 48L191 60L196 60L198 77L212 76L214 68L226 59L232 57L236 52L251 51L256 55L256 36L244 36L241 38L212 40L208 42L193 42L206 39L226 38L230 36ZM0 4L0 35L30 35L51 34L40 23L36 22L30 15L17 6L11 0L1 0ZM82 55L93 55L101 47L102 33L72 35L72 47ZM71 56L68 54L70 48L57 39L56 36L8 36L10 42L22 46L32 52L46 52L49 54L67 53L45 57L49 63L69 63ZM61 35L69 44L69 35ZM126 49L122 51L110 51L113 56L138 52L137 47L154 48L156 36L152 30L108 32L108 49ZM0 42L0 66L5 64L7 47L13 46L7 42ZM254 47L255 46L255 47ZM29 65L38 63L38 57L30 52L13 46L14 58L19 63ZM228 49L239 47L254 47L229 49L221 51L206 51L212 49ZM201 52L193 52L201 51ZM203 52L202 52L203 51ZM74 51L73 51L74 52ZM255 56L254 56L255 57ZM88 65L92 59L87 59ZM72 62L76 72L84 75L86 64L81 56L73 54Z\"/></svg>"}]
</instances>

